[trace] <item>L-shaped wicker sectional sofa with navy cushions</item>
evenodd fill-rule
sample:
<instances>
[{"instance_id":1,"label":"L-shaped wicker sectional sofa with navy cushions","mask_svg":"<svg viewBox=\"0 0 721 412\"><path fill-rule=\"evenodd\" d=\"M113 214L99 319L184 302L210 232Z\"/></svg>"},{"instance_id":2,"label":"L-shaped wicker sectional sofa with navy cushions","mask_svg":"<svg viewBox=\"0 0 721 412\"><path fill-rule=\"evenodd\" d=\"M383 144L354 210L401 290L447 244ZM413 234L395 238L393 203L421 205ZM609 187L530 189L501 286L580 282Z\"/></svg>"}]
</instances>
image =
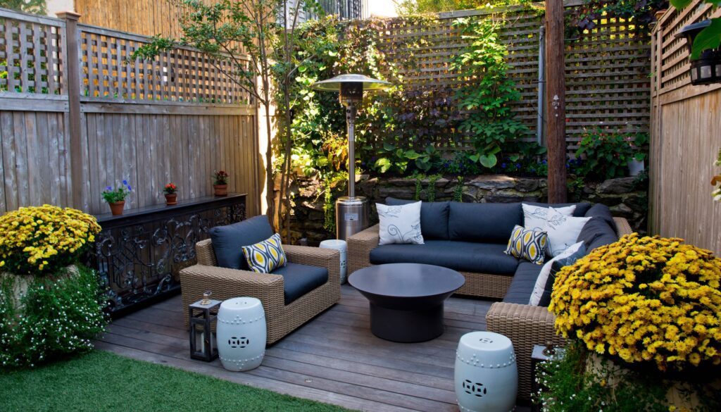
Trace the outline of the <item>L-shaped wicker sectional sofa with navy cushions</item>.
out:
<instances>
[{"instance_id":1,"label":"L-shaped wicker sectional sofa with navy cushions","mask_svg":"<svg viewBox=\"0 0 721 412\"><path fill-rule=\"evenodd\" d=\"M388 204L403 204L409 201L389 198ZM348 238L348 273L373 264L393 262L430 263L447 266L459 271L466 278L466 284L456 294L472 297L503 299L492 304L486 315L487 329L508 336L513 342L518 362L518 398L528 399L531 393L531 349L534 344L562 343L554 333L554 316L547 307L531 306L528 299L541 267L534 263L518 261L509 266L508 255L499 255L505 249L514 224L523 225L521 203L423 203L421 230L426 245L384 245L379 247L379 226L370 227ZM494 205L495 206L491 206ZM549 206L534 203L538 206ZM614 218L606 206L588 203L567 203L577 205L575 216L591 217L586 223L579 240L584 240L588 250L614 242L619 236L631 233L626 219ZM474 206L477 205L477 206ZM445 219L440 209L447 208L448 235L438 231L439 219ZM425 213L424 213L425 212ZM440 217L439 217L440 216ZM458 222L454 224L453 219ZM424 223L429 229L424 229ZM443 227L443 222L441 222ZM480 229L479 229L480 228ZM493 233L489 229L493 228ZM471 239L472 232L482 236ZM439 237L441 237L439 239ZM583 237L583 239L582 239ZM503 244L500 240L505 238ZM386 248L386 249L384 249ZM499 250L501 250L499 252ZM468 258L469 253L476 259ZM450 255L451 258L448 258ZM492 260L492 261L484 261ZM469 268L479 269L471 271ZM512 267L509 271L509 267Z\"/></svg>"}]
</instances>

